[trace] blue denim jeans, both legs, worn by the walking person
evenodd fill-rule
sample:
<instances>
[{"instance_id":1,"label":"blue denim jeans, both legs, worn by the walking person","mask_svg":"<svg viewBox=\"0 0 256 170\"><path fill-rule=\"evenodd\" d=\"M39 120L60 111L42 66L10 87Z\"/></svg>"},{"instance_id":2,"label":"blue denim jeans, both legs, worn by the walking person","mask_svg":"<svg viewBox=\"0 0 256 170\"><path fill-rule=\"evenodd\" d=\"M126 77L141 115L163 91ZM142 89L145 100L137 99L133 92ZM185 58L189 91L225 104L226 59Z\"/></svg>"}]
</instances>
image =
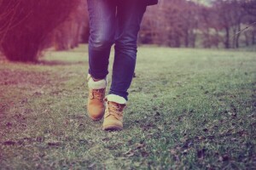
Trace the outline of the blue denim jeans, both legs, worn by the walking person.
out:
<instances>
[{"instance_id":1,"label":"blue denim jeans, both legs, worn by the walking person","mask_svg":"<svg viewBox=\"0 0 256 170\"><path fill-rule=\"evenodd\" d=\"M87 0L90 19L89 73L96 79L107 77L110 49L115 44L109 94L126 100L136 65L137 34L147 6L143 2Z\"/></svg>"}]
</instances>

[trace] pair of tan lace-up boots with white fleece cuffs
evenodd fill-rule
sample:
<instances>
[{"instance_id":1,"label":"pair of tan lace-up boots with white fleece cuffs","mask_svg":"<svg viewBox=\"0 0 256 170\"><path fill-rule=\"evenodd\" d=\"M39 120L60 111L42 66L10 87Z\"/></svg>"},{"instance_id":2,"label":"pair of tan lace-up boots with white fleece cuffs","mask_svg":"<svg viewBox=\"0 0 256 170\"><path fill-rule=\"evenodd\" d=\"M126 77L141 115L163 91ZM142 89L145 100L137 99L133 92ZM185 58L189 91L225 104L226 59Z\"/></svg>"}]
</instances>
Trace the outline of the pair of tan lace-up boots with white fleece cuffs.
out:
<instances>
[{"instance_id":1,"label":"pair of tan lace-up boots with white fleece cuffs","mask_svg":"<svg viewBox=\"0 0 256 170\"><path fill-rule=\"evenodd\" d=\"M107 80L95 81L88 76L89 97L87 113L94 121L99 121L104 116L103 130L122 130L123 114L126 100L115 94L105 97Z\"/></svg>"}]
</instances>

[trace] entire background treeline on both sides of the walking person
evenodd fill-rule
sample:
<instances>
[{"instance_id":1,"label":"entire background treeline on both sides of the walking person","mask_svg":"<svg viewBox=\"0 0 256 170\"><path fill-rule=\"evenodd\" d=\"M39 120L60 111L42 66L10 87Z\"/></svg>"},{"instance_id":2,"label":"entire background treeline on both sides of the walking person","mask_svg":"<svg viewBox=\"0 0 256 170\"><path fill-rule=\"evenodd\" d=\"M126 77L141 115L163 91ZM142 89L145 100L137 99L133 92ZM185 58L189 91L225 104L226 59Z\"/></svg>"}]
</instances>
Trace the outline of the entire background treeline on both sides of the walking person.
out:
<instances>
[{"instance_id":1,"label":"entire background treeline on both sides of the walking person","mask_svg":"<svg viewBox=\"0 0 256 170\"><path fill-rule=\"evenodd\" d=\"M210 1L210 0L209 0ZM0 51L37 61L45 48L88 42L86 0L0 0ZM186 48L239 48L256 43L256 0L160 0L148 7L139 43Z\"/></svg>"}]
</instances>

